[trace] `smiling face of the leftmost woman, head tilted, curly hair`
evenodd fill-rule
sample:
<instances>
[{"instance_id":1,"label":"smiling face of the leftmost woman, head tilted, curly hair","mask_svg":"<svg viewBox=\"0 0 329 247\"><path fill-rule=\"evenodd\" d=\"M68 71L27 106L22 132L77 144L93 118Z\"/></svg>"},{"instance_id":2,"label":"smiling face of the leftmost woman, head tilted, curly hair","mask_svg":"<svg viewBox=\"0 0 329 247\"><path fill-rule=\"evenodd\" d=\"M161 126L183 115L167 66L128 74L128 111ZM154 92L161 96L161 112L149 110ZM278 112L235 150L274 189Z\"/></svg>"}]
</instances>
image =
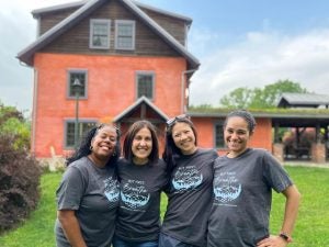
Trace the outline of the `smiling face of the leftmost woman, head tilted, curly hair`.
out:
<instances>
[{"instance_id":1,"label":"smiling face of the leftmost woman, head tilted, curly hair","mask_svg":"<svg viewBox=\"0 0 329 247\"><path fill-rule=\"evenodd\" d=\"M113 126L103 126L95 133L91 141L91 158L98 165L106 165L113 153L117 142L117 134Z\"/></svg>"}]
</instances>

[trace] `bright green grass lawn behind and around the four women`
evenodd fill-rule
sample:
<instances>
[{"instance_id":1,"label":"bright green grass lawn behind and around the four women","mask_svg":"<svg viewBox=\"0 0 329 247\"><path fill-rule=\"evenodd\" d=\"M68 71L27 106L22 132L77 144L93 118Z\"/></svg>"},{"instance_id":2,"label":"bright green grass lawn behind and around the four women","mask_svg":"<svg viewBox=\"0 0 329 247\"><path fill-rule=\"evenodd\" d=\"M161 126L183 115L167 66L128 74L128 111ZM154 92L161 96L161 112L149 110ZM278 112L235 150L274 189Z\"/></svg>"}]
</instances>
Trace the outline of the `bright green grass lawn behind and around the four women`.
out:
<instances>
[{"instance_id":1,"label":"bright green grass lawn behind and around the four women","mask_svg":"<svg viewBox=\"0 0 329 247\"><path fill-rule=\"evenodd\" d=\"M302 193L302 205L295 227L292 247L329 246L329 169L286 167ZM35 212L19 228L0 237L1 247L55 247L54 221L56 217L55 190L61 173L42 177L42 200ZM166 210L161 203L161 215ZM281 228L284 198L274 192L271 213L271 232Z\"/></svg>"}]
</instances>

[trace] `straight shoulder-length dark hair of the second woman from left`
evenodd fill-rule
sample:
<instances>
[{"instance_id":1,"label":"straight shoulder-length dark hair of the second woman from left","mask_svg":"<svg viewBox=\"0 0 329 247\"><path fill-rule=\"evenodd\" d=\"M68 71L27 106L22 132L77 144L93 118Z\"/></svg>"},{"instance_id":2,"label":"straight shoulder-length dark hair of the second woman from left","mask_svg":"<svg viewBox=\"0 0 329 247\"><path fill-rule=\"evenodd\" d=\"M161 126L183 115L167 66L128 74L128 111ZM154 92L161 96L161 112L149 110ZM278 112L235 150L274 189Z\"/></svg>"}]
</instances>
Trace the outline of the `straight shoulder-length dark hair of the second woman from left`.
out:
<instances>
[{"instance_id":1,"label":"straight shoulder-length dark hair of the second woman from left","mask_svg":"<svg viewBox=\"0 0 329 247\"><path fill-rule=\"evenodd\" d=\"M136 134L144 127L146 127L150 131L151 139L152 139L152 149L148 156L148 159L150 161L149 164L157 162L159 159L159 142L158 142L156 127L149 121L140 120L140 121L135 122L128 128L127 134L124 139L123 155L124 155L125 159L127 159L129 162L133 162L133 158L134 158L134 154L132 150L134 138L135 138Z\"/></svg>"}]
</instances>

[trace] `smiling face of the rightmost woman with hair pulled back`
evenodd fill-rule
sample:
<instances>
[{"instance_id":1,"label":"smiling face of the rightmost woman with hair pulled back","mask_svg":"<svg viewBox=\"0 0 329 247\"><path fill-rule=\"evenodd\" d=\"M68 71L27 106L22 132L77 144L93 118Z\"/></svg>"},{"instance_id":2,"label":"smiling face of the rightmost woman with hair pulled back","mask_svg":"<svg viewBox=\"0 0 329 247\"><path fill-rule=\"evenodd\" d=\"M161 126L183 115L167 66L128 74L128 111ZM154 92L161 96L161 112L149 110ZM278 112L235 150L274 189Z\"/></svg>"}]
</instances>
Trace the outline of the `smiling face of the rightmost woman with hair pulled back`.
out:
<instances>
[{"instance_id":1,"label":"smiling face of the rightmost woman with hair pulled back","mask_svg":"<svg viewBox=\"0 0 329 247\"><path fill-rule=\"evenodd\" d=\"M252 133L250 133L248 123L243 117L229 117L224 128L224 139L229 149L228 157L234 158L242 154L248 147L251 135Z\"/></svg>"}]
</instances>

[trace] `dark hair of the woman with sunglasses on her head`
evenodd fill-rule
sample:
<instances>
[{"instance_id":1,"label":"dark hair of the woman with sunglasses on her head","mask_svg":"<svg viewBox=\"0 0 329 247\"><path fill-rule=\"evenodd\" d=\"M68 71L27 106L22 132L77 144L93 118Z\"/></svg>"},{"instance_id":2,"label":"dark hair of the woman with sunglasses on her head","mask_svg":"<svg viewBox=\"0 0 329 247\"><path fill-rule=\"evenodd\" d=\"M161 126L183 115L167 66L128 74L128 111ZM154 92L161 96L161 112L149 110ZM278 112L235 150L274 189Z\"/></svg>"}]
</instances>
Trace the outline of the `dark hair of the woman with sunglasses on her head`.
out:
<instances>
[{"instance_id":1,"label":"dark hair of the woman with sunglasses on her head","mask_svg":"<svg viewBox=\"0 0 329 247\"><path fill-rule=\"evenodd\" d=\"M177 123L185 123L191 128L195 136L195 146L197 146L197 132L193 124L193 122L186 116L186 117L177 117L173 122L173 124L167 126L166 130L166 144L164 144L164 150L162 154L163 160L167 162L167 168L171 172L173 168L175 167L174 156L181 156L182 151L180 148L178 148L174 144L174 141L172 138L172 128Z\"/></svg>"}]
</instances>

